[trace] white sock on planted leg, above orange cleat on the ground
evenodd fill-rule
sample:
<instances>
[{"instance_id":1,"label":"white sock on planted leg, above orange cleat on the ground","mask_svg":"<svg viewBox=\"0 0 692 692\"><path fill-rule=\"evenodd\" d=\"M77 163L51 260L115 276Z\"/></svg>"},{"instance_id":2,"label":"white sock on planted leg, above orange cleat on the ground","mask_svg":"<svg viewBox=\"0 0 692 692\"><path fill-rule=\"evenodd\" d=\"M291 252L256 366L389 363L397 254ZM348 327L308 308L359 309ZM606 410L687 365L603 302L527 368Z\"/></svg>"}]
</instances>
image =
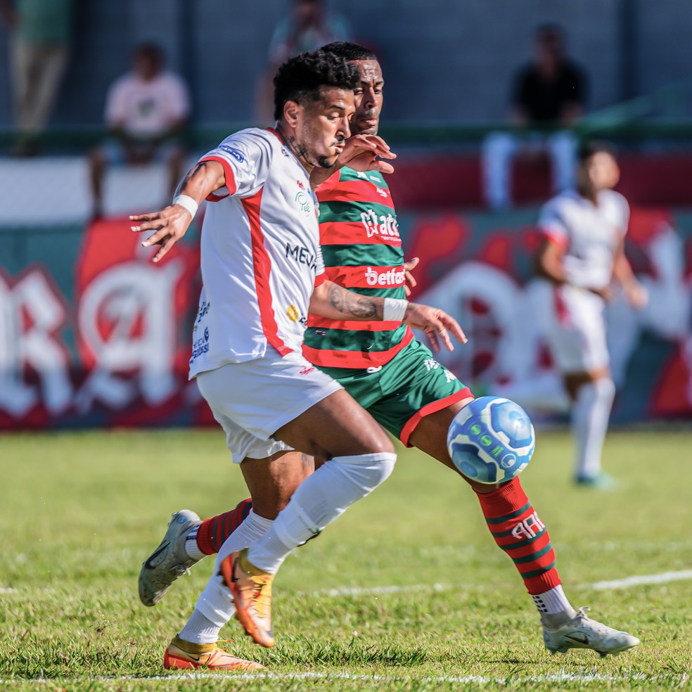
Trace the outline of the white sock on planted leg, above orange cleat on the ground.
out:
<instances>
[{"instance_id":1,"label":"white sock on planted leg, above orange cleat on the ground","mask_svg":"<svg viewBox=\"0 0 692 692\"><path fill-rule=\"evenodd\" d=\"M216 639L214 641L219 639L219 631L226 622L231 620L233 613L236 612L233 599L231 598L231 591L224 584L224 578L219 576L222 560L233 551L245 548L252 541L262 537L272 523L271 519L259 517L254 511L250 510L243 523L233 531L221 546L214 564L214 573L207 582L204 591L200 594L195 606L195 613L203 615L207 621L212 622L216 627ZM195 617L195 613L193 613L193 617ZM192 621L192 617L190 620ZM193 625L192 622L188 622L188 624L191 627ZM185 629L187 627L188 625L185 626ZM211 633L207 633L207 636L211 636ZM186 637L181 635L181 639L186 639Z\"/></svg>"}]
</instances>

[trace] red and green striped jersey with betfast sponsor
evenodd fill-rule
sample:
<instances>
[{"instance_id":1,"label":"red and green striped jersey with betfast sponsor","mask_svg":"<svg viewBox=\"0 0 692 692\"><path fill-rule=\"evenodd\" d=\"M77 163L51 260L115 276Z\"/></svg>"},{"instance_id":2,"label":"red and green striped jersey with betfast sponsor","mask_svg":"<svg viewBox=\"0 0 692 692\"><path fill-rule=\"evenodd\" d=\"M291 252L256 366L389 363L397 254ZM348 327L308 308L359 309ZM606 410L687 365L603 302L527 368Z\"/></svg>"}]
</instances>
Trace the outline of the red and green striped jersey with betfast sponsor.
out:
<instances>
[{"instance_id":1,"label":"red and green striped jersey with betfast sponsor","mask_svg":"<svg viewBox=\"0 0 692 692\"><path fill-rule=\"evenodd\" d=\"M326 278L363 295L404 298L404 252L397 212L378 172L350 168L317 188ZM311 314L303 354L325 368L388 363L414 338L399 322L331 320Z\"/></svg>"}]
</instances>

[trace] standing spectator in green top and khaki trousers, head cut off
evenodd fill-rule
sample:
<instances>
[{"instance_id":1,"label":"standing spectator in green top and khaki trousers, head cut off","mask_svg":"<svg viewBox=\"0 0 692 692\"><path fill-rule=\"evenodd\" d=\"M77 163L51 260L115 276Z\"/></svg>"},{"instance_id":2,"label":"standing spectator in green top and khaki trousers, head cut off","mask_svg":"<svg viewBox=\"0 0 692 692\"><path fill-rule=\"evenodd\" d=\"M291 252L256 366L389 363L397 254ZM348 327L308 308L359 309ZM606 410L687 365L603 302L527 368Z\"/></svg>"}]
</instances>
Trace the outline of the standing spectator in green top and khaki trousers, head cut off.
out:
<instances>
[{"instance_id":1,"label":"standing spectator in green top and khaki trousers, head cut off","mask_svg":"<svg viewBox=\"0 0 692 692\"><path fill-rule=\"evenodd\" d=\"M37 153L37 135L51 115L65 72L72 8L73 0L0 0L0 15L12 32L16 155Z\"/></svg>"}]
</instances>

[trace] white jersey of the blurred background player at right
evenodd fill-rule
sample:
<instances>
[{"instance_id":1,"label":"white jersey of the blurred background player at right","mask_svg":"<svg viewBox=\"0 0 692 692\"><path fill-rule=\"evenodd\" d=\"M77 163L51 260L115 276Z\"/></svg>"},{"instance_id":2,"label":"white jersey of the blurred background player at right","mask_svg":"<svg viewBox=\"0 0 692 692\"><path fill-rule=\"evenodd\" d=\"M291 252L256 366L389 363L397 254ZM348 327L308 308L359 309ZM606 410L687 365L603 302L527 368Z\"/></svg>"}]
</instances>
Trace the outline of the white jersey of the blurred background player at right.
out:
<instances>
[{"instance_id":1,"label":"white jersey of the blurred background player at right","mask_svg":"<svg viewBox=\"0 0 692 692\"><path fill-rule=\"evenodd\" d=\"M565 249L563 267L572 286L603 288L613 276L613 259L627 232L627 200L603 190L594 205L576 192L565 192L544 205L539 226Z\"/></svg>"}]
</instances>

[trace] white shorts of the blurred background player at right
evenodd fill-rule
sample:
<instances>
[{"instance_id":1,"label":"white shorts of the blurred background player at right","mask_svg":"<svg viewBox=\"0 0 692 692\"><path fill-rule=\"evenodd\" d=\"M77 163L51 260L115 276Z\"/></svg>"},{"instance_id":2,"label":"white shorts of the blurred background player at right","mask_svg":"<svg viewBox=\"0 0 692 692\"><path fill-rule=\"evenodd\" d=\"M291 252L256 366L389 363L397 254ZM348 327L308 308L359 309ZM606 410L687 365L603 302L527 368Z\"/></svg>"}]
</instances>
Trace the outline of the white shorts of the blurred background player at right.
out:
<instances>
[{"instance_id":1,"label":"white shorts of the blurred background player at right","mask_svg":"<svg viewBox=\"0 0 692 692\"><path fill-rule=\"evenodd\" d=\"M582 373L608 367L603 299L586 288L555 286L547 338L558 369Z\"/></svg>"}]
</instances>

